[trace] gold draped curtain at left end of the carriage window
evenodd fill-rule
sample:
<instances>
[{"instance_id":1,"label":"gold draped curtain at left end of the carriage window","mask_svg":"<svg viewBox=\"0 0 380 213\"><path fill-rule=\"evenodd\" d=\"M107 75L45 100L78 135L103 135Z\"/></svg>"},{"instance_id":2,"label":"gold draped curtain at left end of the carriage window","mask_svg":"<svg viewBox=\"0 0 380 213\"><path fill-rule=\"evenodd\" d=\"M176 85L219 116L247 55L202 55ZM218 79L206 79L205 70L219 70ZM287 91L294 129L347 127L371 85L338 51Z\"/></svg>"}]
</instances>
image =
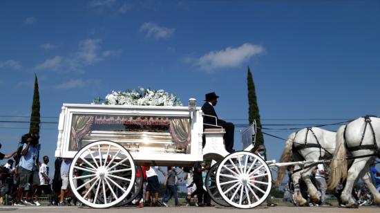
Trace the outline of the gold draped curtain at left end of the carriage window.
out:
<instances>
[{"instance_id":1,"label":"gold draped curtain at left end of the carriage window","mask_svg":"<svg viewBox=\"0 0 380 213\"><path fill-rule=\"evenodd\" d=\"M82 138L91 130L93 115L73 115L71 122L70 150L82 148Z\"/></svg>"}]
</instances>

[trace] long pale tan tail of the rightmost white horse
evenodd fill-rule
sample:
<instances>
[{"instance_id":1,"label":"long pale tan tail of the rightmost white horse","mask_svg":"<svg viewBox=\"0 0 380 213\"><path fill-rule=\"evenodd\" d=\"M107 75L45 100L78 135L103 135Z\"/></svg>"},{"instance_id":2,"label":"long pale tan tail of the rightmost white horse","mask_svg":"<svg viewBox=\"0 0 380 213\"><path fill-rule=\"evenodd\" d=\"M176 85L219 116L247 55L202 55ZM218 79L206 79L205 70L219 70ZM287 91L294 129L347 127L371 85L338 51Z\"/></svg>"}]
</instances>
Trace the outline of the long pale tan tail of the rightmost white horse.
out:
<instances>
[{"instance_id":1,"label":"long pale tan tail of the rightmost white horse","mask_svg":"<svg viewBox=\"0 0 380 213\"><path fill-rule=\"evenodd\" d=\"M334 156L330 163L330 178L327 184L329 189L334 189L341 180L345 180L347 178L347 151L345 148L345 127L342 126L336 132L336 148L334 152Z\"/></svg>"}]
</instances>

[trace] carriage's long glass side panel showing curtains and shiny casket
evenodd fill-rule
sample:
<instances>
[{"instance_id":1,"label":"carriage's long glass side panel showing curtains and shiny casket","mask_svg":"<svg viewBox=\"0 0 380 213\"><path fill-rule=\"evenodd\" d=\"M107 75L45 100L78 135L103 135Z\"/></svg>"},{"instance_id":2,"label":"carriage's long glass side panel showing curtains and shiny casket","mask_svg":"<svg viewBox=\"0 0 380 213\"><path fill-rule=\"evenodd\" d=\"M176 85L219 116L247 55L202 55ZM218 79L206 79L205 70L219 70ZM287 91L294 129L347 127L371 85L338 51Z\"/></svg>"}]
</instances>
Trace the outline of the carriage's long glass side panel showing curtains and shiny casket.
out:
<instances>
[{"instance_id":1,"label":"carriage's long glass side panel showing curtains and shiny casket","mask_svg":"<svg viewBox=\"0 0 380 213\"><path fill-rule=\"evenodd\" d=\"M69 151L90 142L112 140L129 151L189 153L191 120L185 117L74 113Z\"/></svg>"}]
</instances>

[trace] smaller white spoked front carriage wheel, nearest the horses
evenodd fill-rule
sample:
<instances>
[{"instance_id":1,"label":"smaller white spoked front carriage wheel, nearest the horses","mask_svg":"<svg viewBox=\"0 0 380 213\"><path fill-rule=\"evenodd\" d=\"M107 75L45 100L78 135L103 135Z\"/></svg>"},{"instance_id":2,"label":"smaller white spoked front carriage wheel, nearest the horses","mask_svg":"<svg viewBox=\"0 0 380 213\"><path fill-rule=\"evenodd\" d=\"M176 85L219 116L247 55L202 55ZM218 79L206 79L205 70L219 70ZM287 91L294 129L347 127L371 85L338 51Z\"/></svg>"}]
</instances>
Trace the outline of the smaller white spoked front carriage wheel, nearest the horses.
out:
<instances>
[{"instance_id":1,"label":"smaller white spoked front carriage wheel, nearest the horses","mask_svg":"<svg viewBox=\"0 0 380 213\"><path fill-rule=\"evenodd\" d=\"M223 199L242 209L265 201L272 189L272 174L263 158L248 151L226 156L216 172L216 186Z\"/></svg>"}]
</instances>

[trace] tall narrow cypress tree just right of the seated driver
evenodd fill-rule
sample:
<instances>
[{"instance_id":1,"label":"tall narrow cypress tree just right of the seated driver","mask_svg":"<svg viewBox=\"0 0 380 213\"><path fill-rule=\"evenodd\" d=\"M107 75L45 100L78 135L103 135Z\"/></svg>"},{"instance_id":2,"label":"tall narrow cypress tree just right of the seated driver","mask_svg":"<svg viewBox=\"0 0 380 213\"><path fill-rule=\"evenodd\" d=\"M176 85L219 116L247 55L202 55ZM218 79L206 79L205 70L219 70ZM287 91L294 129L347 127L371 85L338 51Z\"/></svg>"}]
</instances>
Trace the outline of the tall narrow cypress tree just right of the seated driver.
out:
<instances>
[{"instance_id":1,"label":"tall narrow cypress tree just right of the seated driver","mask_svg":"<svg viewBox=\"0 0 380 213\"><path fill-rule=\"evenodd\" d=\"M260 111L258 110L257 96L254 78L252 77L251 69L248 66L248 75L247 75L247 84L248 84L248 103L249 103L249 124L256 120L257 132L256 132L256 147L258 145L264 145L264 137L261 132L261 122L260 122Z\"/></svg>"}]
</instances>

